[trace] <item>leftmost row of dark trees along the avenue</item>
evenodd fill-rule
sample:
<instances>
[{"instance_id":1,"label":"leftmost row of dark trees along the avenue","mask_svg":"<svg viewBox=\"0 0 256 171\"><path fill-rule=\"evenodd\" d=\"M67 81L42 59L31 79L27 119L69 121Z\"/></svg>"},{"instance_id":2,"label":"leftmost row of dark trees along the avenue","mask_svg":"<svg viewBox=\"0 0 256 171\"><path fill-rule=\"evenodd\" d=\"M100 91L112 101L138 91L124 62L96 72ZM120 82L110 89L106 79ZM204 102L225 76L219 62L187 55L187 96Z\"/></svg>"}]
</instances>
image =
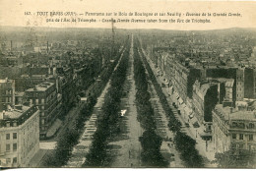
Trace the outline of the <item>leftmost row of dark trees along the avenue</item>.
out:
<instances>
[{"instance_id":1,"label":"leftmost row of dark trees along the avenue","mask_svg":"<svg viewBox=\"0 0 256 171\"><path fill-rule=\"evenodd\" d=\"M102 82L100 86L97 87L98 89L96 93L92 93L88 97L87 104L80 111L76 121L71 122L72 126L69 128L72 129L67 128L65 130L63 135L57 141L55 150L53 151L51 156L48 156L44 161L44 165L48 167L61 167L67 163L71 156L73 146L78 143L80 135L84 131L84 123L92 115L94 106L96 104L96 99L102 91L103 87L106 85L107 81L109 80L111 73L113 72L118 60L120 59L123 50L120 51L119 54L115 57L114 62L109 64L105 72L100 74Z\"/></svg>"}]
</instances>

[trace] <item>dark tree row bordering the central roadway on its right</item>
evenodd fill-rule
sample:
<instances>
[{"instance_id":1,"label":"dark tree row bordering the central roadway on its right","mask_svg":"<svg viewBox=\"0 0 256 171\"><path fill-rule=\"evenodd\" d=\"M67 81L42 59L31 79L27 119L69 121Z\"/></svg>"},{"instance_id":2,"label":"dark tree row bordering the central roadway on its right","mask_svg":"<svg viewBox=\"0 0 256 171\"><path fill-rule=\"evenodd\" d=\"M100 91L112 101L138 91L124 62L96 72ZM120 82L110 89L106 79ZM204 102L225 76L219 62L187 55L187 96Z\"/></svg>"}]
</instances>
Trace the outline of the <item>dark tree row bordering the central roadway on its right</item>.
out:
<instances>
[{"instance_id":1,"label":"dark tree row bordering the central roadway on its right","mask_svg":"<svg viewBox=\"0 0 256 171\"><path fill-rule=\"evenodd\" d=\"M140 142L142 144L142 161L144 165L150 167L166 167L167 162L160 153L162 139L156 133L156 121L154 119L154 109L150 102L151 94L148 91L148 81L146 70L138 53L137 43L134 46L134 79L136 85L136 106L137 119L145 130Z\"/></svg>"}]
</instances>

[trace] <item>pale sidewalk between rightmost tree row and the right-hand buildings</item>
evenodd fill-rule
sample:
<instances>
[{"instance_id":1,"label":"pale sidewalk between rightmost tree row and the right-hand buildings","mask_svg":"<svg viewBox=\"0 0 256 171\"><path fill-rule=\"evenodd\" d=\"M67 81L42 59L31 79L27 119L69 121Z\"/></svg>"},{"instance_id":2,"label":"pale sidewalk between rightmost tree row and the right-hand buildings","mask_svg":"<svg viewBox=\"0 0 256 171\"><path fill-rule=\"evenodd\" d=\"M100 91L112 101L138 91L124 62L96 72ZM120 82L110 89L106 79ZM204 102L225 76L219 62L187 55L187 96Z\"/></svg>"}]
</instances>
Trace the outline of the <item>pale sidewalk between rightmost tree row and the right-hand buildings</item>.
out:
<instances>
[{"instance_id":1,"label":"pale sidewalk between rightmost tree row and the right-hand buildings","mask_svg":"<svg viewBox=\"0 0 256 171\"><path fill-rule=\"evenodd\" d=\"M148 57L148 55L145 53L145 51L143 50L143 53L144 55L146 56L147 58L147 61L149 62L155 76L157 76L157 69L155 68L155 66L153 65L153 62L151 61L151 59ZM163 81L163 77L156 77L157 78L157 81L158 83L162 83ZM174 115L177 119L179 119L179 121L181 122L182 124L182 132L183 133L186 133L188 136L190 136L192 139L194 139L197 143L196 143L196 149L198 149L199 153L202 155L202 156L205 156L207 157L210 161L214 160L215 159L215 152L214 152L214 148L213 148L213 142L207 142L206 144L206 141L203 141L200 137L200 134L203 134L204 133L204 128L202 126L200 126L199 128L194 128L193 127L193 123L197 121L197 119L195 117L193 117L193 120L190 120L189 122L189 128L187 128L185 126L185 123L188 122L188 119L185 117L184 118L184 113L182 112L183 110L180 110L181 112L181 115L178 114L177 110L179 109L179 106L178 109L176 109L174 106L172 106L172 102L175 102L176 104L178 103L178 100L176 99L175 95L174 94L171 94L169 96L169 93L167 92L167 89L166 87L161 87L162 89L162 92L165 94L165 96L167 97L167 101L168 101L168 104L171 108L171 110L174 112ZM188 106L187 106L188 107ZM180 108L182 109L182 108ZM182 117L183 116L183 117ZM199 122L198 122L199 123ZM207 165L206 167L214 167L213 165Z\"/></svg>"}]
</instances>

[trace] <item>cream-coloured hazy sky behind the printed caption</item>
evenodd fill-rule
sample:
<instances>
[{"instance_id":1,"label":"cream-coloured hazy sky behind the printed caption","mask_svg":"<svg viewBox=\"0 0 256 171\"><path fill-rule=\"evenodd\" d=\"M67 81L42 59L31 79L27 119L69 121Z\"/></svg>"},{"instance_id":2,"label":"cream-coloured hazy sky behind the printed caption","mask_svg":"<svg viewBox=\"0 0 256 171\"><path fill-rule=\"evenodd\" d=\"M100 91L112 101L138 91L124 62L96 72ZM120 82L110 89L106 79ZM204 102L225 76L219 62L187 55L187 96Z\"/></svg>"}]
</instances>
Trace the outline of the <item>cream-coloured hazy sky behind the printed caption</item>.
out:
<instances>
[{"instance_id":1,"label":"cream-coloured hazy sky behind the printed caption","mask_svg":"<svg viewBox=\"0 0 256 171\"><path fill-rule=\"evenodd\" d=\"M0 26L19 27L54 27L54 28L111 28L111 23L101 23L102 20L122 19L122 20L157 20L158 23L116 23L116 28L163 28L163 29L215 29L215 28L256 28L256 2L238 1L170 1L170 0L0 0ZM26 16L25 12L32 15ZM37 16L37 12L48 12L48 16ZM111 13L111 12L145 12L145 13L180 13L177 16L60 16L50 17L49 12L76 12L78 14L89 13ZM212 16L191 17L189 13L211 13ZM213 14L225 13L226 17L213 17ZM239 13L241 17L228 17L228 14ZM96 19L96 23L71 23L71 22L48 22L46 19L54 20L66 19ZM161 20L177 19L190 20L190 23L159 23ZM209 19L211 23L198 24L191 23L192 19ZM99 21L101 20L101 21Z\"/></svg>"}]
</instances>

